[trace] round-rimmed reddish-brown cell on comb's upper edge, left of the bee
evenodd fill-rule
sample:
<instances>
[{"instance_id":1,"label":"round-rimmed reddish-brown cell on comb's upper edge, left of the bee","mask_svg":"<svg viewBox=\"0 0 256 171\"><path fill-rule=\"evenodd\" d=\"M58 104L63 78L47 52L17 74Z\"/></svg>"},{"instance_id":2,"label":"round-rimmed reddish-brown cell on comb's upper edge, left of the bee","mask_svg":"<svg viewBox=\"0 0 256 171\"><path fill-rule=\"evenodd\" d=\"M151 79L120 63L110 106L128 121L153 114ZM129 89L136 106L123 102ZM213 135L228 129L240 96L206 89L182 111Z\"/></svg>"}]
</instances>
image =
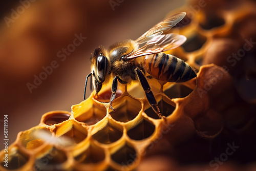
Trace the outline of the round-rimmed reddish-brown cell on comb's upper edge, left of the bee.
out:
<instances>
[{"instance_id":1,"label":"round-rimmed reddish-brown cell on comb's upper edge, left of the bee","mask_svg":"<svg viewBox=\"0 0 256 171\"><path fill-rule=\"evenodd\" d=\"M53 125L68 120L71 113L66 111L52 111L42 116L41 123Z\"/></svg>"}]
</instances>

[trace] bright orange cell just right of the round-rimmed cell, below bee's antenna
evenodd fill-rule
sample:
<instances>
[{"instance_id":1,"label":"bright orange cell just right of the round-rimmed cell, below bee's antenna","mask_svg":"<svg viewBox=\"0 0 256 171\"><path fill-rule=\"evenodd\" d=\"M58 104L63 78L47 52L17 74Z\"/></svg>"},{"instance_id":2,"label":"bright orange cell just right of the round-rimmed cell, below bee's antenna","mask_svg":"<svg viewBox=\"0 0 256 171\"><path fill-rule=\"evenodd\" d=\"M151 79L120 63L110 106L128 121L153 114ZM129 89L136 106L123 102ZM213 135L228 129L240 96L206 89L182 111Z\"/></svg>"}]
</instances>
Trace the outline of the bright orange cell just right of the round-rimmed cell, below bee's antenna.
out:
<instances>
[{"instance_id":1,"label":"bright orange cell just right of the round-rimmed cell, below bee's antenna","mask_svg":"<svg viewBox=\"0 0 256 171\"><path fill-rule=\"evenodd\" d=\"M93 125L106 116L106 109L99 104L92 103L87 108L89 110L86 113L74 113L77 121Z\"/></svg>"}]
</instances>

